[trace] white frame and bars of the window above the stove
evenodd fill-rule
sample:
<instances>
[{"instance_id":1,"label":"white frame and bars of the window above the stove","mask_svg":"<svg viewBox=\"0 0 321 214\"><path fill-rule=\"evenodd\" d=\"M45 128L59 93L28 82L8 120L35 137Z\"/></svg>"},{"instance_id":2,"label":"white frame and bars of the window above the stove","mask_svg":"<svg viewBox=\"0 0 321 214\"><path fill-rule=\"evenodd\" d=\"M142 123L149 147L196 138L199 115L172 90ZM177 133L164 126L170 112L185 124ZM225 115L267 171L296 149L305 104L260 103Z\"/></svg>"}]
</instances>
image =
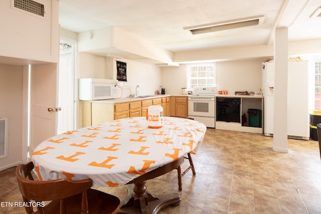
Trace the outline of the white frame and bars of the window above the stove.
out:
<instances>
[{"instance_id":1,"label":"white frame and bars of the window above the stove","mask_svg":"<svg viewBox=\"0 0 321 214\"><path fill-rule=\"evenodd\" d=\"M201 68L201 67L210 67L210 66L213 66L213 72L214 72L214 75L213 75L213 77L212 76L210 76L210 77L191 77L191 69L192 69L192 67L198 67L198 72L202 72L202 71L200 71L199 69ZM211 87L211 86L216 86L216 64L215 63L200 63L200 64L189 64L188 66L187 66L187 87L189 88L189 89L193 89L193 87L195 87L195 86L202 86L202 87ZM194 79L194 80L202 80L202 79L205 79L205 80L210 80L210 79L213 79L214 78L214 80L213 80L213 82L212 82L212 84L210 84L210 83L208 83L208 81L206 81L206 84L191 84L191 79Z\"/></svg>"}]
</instances>

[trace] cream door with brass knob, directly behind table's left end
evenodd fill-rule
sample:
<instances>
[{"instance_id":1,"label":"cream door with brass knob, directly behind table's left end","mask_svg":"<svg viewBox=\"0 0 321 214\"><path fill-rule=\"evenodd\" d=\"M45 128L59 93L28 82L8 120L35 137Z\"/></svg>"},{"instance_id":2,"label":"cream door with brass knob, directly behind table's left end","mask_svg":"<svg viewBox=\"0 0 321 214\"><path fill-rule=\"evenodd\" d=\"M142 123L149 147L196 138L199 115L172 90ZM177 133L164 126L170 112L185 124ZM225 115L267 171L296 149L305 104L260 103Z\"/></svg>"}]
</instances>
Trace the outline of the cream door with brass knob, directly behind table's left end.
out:
<instances>
[{"instance_id":1,"label":"cream door with brass knob, directly behind table's left end","mask_svg":"<svg viewBox=\"0 0 321 214\"><path fill-rule=\"evenodd\" d=\"M31 65L30 68L30 143L29 157L38 144L56 135L57 64Z\"/></svg>"}]
</instances>

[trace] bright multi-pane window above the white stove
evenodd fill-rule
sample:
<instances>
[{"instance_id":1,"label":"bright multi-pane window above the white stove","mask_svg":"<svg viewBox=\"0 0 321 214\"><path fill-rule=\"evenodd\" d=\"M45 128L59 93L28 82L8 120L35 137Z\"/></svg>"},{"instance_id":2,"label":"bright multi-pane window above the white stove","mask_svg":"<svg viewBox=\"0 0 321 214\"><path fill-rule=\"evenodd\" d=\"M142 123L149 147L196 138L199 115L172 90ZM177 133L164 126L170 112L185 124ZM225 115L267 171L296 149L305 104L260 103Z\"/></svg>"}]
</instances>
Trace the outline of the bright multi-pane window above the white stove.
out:
<instances>
[{"instance_id":1,"label":"bright multi-pane window above the white stove","mask_svg":"<svg viewBox=\"0 0 321 214\"><path fill-rule=\"evenodd\" d=\"M187 86L210 87L216 85L215 64L197 64L187 67Z\"/></svg>"}]
</instances>

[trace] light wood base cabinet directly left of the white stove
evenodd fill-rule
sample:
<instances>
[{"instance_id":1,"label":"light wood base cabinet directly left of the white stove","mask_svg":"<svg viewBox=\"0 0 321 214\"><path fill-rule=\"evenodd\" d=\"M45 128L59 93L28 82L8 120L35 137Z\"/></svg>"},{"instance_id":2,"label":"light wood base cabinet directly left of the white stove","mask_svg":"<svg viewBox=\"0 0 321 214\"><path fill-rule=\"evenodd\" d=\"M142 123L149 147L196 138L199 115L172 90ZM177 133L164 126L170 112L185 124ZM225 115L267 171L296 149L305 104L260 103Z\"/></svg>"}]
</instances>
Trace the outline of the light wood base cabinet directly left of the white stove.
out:
<instances>
[{"instance_id":1,"label":"light wood base cabinet directly left of the white stove","mask_svg":"<svg viewBox=\"0 0 321 214\"><path fill-rule=\"evenodd\" d=\"M188 116L188 97L187 96L175 96L170 97L170 115L169 116Z\"/></svg>"}]
</instances>

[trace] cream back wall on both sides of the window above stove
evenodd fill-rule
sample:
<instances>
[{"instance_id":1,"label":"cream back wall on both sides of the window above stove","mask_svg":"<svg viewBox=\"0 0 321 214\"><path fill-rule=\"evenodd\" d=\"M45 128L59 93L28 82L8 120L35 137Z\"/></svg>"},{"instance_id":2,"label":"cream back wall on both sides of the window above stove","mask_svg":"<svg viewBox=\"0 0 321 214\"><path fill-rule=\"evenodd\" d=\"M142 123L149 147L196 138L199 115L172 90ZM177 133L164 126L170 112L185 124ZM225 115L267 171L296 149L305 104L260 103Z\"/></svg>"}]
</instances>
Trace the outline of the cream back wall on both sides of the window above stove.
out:
<instances>
[{"instance_id":1,"label":"cream back wall on both sides of the window above stove","mask_svg":"<svg viewBox=\"0 0 321 214\"><path fill-rule=\"evenodd\" d=\"M216 78L218 90L259 91L261 88L261 60L217 62ZM187 85L187 65L162 68L162 85L168 94L181 94Z\"/></svg>"}]
</instances>

